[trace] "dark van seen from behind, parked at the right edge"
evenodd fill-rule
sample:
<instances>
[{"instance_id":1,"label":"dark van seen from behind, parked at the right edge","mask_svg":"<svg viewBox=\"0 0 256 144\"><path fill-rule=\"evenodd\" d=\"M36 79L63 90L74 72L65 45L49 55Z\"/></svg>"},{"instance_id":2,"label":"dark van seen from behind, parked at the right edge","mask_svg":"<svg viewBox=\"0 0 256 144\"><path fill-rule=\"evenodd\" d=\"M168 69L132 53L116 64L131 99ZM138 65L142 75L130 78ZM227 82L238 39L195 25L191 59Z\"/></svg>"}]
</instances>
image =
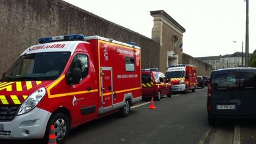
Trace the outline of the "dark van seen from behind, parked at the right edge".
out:
<instances>
[{"instance_id":1,"label":"dark van seen from behind, parked at the right edge","mask_svg":"<svg viewBox=\"0 0 256 144\"><path fill-rule=\"evenodd\" d=\"M207 95L209 124L219 118L256 117L256 68L213 71Z\"/></svg>"}]
</instances>

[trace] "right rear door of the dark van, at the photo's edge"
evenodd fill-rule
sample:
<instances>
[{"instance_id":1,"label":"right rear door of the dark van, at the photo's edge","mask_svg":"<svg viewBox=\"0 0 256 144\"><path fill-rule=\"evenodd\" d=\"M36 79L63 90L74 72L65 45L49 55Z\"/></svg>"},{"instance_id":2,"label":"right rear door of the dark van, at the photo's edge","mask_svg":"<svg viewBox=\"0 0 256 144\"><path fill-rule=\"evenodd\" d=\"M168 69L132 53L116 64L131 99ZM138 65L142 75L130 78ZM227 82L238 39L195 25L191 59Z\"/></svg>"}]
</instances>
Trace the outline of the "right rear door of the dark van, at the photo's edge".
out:
<instances>
[{"instance_id":1,"label":"right rear door of the dark van, at the photo's edge","mask_svg":"<svg viewBox=\"0 0 256 144\"><path fill-rule=\"evenodd\" d=\"M256 71L255 69L240 70L240 91L234 95L241 100L242 113L256 113Z\"/></svg>"}]
</instances>

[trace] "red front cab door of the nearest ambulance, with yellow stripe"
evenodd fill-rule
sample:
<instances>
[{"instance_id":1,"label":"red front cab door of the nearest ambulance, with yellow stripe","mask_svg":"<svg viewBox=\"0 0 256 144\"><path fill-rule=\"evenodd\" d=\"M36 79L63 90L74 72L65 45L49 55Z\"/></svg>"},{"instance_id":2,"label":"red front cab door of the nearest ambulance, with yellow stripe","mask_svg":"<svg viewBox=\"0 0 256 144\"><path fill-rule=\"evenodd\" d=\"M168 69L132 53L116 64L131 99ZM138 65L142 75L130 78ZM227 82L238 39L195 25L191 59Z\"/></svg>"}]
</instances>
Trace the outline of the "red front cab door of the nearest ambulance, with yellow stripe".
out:
<instances>
[{"instance_id":1,"label":"red front cab door of the nearest ambulance, with yellow stripe","mask_svg":"<svg viewBox=\"0 0 256 144\"><path fill-rule=\"evenodd\" d=\"M79 68L82 79L79 84L71 84L68 88L68 97L71 97L71 111L74 117L73 123L80 123L95 117L97 85L95 84L95 73L90 71L91 65L89 55L75 53L69 66L68 75L72 69Z\"/></svg>"}]
</instances>

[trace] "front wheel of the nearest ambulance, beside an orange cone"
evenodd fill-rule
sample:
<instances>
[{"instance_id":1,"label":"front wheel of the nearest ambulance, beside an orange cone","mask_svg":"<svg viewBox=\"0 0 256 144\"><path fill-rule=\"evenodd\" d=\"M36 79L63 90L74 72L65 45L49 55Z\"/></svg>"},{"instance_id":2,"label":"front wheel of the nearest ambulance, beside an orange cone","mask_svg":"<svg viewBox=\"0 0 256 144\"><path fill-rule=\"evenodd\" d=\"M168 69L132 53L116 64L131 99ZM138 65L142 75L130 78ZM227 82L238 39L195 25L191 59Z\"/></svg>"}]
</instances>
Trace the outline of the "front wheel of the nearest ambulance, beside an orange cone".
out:
<instances>
[{"instance_id":1,"label":"front wheel of the nearest ambulance, beside an orange cone","mask_svg":"<svg viewBox=\"0 0 256 144\"><path fill-rule=\"evenodd\" d=\"M70 130L70 122L68 117L66 117L63 113L56 113L50 118L47 127L46 133L44 135L44 141L48 142L49 134L50 134L50 126L54 126L56 142L58 144L64 143L68 137L69 130Z\"/></svg>"}]
</instances>

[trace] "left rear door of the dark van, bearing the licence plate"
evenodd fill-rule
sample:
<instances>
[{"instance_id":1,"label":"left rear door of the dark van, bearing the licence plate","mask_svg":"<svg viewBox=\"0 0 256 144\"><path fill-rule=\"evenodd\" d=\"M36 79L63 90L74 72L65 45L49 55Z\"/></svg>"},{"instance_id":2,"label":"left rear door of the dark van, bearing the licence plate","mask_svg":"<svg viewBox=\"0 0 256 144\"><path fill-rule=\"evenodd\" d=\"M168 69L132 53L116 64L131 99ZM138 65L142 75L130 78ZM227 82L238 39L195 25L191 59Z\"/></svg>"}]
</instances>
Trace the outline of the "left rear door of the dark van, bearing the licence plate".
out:
<instances>
[{"instance_id":1,"label":"left rear door of the dark van, bearing the licence plate","mask_svg":"<svg viewBox=\"0 0 256 144\"><path fill-rule=\"evenodd\" d=\"M212 107L217 113L233 113L241 110L239 70L227 69L212 76Z\"/></svg>"}]
</instances>

